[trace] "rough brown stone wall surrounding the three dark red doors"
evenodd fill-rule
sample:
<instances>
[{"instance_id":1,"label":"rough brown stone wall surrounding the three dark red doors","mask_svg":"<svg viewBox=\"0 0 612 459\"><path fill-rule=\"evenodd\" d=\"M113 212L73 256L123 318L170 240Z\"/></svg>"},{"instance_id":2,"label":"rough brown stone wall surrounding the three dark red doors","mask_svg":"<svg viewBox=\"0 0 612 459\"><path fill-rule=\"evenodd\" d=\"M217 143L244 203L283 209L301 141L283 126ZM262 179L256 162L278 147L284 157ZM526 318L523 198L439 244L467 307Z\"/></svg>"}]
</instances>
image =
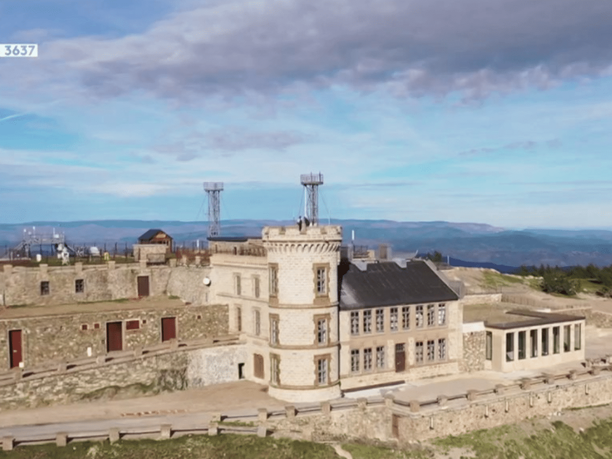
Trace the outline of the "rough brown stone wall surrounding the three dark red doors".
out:
<instances>
[{"instance_id":1,"label":"rough brown stone wall surrounding the three dark red doors","mask_svg":"<svg viewBox=\"0 0 612 459\"><path fill-rule=\"evenodd\" d=\"M228 334L226 305L139 309L118 304L114 311L0 319L0 369L10 367L9 330L22 330L23 362L28 368L50 360L88 357L88 348L94 356L105 354L107 322L122 322L123 349L157 345L162 341L162 317L176 317L176 335L181 340ZM138 320L138 329L127 330L128 320Z\"/></svg>"}]
</instances>

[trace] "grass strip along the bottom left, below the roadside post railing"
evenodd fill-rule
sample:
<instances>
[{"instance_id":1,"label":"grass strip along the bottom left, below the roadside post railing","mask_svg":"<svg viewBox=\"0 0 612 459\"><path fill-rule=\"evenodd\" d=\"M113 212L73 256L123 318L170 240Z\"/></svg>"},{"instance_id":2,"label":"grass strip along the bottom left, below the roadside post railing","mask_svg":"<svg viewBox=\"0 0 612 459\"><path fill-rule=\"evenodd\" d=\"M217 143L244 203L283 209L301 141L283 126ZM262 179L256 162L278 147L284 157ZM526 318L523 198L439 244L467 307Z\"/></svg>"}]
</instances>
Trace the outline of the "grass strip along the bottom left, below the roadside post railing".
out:
<instances>
[{"instance_id":1,"label":"grass strip along the bottom left, below the roadside post railing","mask_svg":"<svg viewBox=\"0 0 612 459\"><path fill-rule=\"evenodd\" d=\"M165 441L121 440L16 447L0 459L338 459L334 449L308 441L255 435L188 435Z\"/></svg>"}]
</instances>

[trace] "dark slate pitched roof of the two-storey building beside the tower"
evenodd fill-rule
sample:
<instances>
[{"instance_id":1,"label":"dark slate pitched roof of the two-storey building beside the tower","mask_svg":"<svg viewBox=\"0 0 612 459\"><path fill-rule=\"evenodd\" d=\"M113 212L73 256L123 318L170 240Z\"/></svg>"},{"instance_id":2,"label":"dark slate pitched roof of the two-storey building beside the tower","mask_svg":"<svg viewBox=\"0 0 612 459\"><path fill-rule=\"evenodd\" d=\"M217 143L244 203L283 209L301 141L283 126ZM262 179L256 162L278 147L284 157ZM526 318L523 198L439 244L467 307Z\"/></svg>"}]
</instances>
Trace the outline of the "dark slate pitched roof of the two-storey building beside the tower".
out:
<instances>
[{"instance_id":1,"label":"dark slate pitched roof of the two-storey building beside the tower","mask_svg":"<svg viewBox=\"0 0 612 459\"><path fill-rule=\"evenodd\" d=\"M424 261L356 264L338 270L340 309L458 300L457 294Z\"/></svg>"}]
</instances>

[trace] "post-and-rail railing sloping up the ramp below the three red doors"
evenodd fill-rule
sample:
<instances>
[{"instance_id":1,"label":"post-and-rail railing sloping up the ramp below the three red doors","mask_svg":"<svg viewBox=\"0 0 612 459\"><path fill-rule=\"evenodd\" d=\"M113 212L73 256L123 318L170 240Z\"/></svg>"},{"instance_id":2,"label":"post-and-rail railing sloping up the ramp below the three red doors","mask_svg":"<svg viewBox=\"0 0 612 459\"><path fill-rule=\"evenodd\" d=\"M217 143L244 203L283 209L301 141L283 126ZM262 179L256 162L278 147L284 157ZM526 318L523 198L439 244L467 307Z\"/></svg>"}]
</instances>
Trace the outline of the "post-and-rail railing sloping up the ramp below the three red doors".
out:
<instances>
[{"instance_id":1,"label":"post-and-rail railing sloping up the ramp below the three red doors","mask_svg":"<svg viewBox=\"0 0 612 459\"><path fill-rule=\"evenodd\" d=\"M115 351L110 354L102 354L96 357L84 357L73 360L56 360L45 364L36 365L32 368L12 368L12 370L0 373L0 386L8 386L18 381L30 381L32 379L45 378L63 373L73 373L75 371L89 370L107 364L124 364L140 358L141 356L155 356L167 354L177 350L190 351L193 349L225 346L231 343L238 343L236 335L225 335L203 340L178 341L171 340L160 345L135 348L129 351Z\"/></svg>"}]
</instances>

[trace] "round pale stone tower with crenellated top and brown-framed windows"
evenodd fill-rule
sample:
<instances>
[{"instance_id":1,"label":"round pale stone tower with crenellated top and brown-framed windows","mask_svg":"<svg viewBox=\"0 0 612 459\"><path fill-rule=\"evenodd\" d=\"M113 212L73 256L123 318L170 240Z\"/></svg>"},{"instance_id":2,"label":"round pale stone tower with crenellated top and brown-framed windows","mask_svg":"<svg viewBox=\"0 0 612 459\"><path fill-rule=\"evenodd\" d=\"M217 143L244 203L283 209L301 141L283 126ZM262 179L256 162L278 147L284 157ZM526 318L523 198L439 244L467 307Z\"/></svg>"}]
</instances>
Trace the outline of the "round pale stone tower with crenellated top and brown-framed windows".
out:
<instances>
[{"instance_id":1,"label":"round pale stone tower with crenellated top and brown-framed windows","mask_svg":"<svg viewBox=\"0 0 612 459\"><path fill-rule=\"evenodd\" d=\"M269 263L269 395L338 398L341 226L265 227Z\"/></svg>"}]
</instances>

